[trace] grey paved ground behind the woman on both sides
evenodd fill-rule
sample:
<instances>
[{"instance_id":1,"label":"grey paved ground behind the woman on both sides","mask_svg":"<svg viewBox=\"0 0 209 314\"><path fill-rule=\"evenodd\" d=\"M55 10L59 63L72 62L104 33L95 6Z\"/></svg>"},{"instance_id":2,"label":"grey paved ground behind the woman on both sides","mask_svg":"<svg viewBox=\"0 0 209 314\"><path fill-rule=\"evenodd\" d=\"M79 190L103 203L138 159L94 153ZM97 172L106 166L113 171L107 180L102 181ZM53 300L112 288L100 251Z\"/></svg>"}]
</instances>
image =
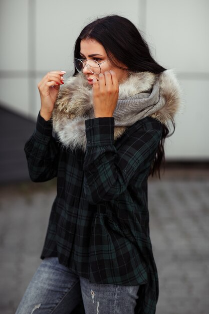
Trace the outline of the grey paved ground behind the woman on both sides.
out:
<instances>
[{"instance_id":1,"label":"grey paved ground behind the woman on both sides","mask_svg":"<svg viewBox=\"0 0 209 314\"><path fill-rule=\"evenodd\" d=\"M150 236L160 285L156 314L207 314L208 169L173 169L161 181L149 180L148 190ZM55 183L0 187L1 314L15 313L41 262L55 194Z\"/></svg>"}]
</instances>

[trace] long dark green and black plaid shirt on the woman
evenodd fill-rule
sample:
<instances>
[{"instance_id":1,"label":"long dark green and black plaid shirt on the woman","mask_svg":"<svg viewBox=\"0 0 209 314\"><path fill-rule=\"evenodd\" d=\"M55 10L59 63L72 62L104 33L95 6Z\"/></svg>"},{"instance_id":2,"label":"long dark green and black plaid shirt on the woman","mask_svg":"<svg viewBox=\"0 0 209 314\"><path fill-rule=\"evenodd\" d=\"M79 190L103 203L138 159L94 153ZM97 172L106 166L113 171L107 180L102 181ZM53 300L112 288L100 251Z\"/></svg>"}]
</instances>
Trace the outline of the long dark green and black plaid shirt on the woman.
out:
<instances>
[{"instance_id":1,"label":"long dark green and black plaid shirt on the woman","mask_svg":"<svg viewBox=\"0 0 209 314\"><path fill-rule=\"evenodd\" d=\"M41 258L90 282L140 285L137 313L155 313L158 276L149 237L147 178L161 123L137 121L116 141L114 118L86 120L86 151L63 147L39 114L25 145L30 177L57 177L57 197Z\"/></svg>"}]
</instances>

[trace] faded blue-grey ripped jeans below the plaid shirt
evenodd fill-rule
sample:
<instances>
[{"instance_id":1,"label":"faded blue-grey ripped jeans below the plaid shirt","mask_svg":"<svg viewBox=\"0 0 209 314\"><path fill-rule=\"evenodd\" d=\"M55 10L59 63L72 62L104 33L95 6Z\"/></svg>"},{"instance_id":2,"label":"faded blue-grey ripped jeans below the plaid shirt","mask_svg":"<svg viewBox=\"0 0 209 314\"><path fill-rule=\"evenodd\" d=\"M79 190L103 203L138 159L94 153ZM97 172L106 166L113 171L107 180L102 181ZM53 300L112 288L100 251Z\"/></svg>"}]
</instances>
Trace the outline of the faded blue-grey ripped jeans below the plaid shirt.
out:
<instances>
[{"instance_id":1,"label":"faded blue-grey ripped jeans below the plaid shirt","mask_svg":"<svg viewBox=\"0 0 209 314\"><path fill-rule=\"evenodd\" d=\"M45 258L34 274L16 314L134 314L139 286L90 283ZM84 308L82 310L84 305Z\"/></svg>"}]
</instances>

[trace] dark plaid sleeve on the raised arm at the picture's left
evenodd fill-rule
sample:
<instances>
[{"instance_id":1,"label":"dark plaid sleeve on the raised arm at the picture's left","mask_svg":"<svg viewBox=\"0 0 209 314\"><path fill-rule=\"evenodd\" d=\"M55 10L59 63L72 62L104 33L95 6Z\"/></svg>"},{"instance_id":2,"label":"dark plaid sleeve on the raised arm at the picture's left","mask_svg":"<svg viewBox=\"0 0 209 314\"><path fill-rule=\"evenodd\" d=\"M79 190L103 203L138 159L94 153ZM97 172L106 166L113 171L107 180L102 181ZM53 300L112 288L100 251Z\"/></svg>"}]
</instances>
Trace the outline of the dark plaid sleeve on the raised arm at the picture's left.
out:
<instances>
[{"instance_id":1,"label":"dark plaid sleeve on the raised arm at the picture's left","mask_svg":"<svg viewBox=\"0 0 209 314\"><path fill-rule=\"evenodd\" d=\"M36 129L25 144L29 175L34 182L44 182L57 176L59 147L52 136L52 121L45 121L40 113Z\"/></svg>"}]
</instances>

